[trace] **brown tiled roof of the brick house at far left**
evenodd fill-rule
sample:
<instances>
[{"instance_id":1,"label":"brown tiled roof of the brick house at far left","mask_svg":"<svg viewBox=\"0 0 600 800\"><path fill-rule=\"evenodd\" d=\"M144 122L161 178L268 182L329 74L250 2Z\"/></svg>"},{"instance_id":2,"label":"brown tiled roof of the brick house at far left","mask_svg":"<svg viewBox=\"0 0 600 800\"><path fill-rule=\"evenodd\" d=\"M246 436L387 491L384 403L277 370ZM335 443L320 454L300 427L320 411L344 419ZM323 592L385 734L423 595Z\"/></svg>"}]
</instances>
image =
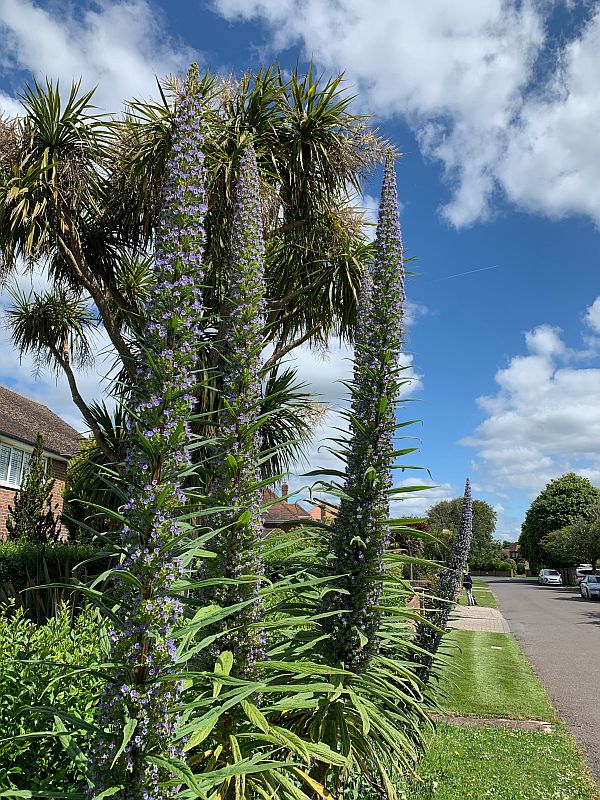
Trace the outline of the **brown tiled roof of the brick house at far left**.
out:
<instances>
[{"instance_id":1,"label":"brown tiled roof of the brick house at far left","mask_svg":"<svg viewBox=\"0 0 600 800\"><path fill-rule=\"evenodd\" d=\"M64 458L75 455L82 439L47 406L0 386L0 434L33 445L38 433L44 437L45 450Z\"/></svg>"}]
</instances>

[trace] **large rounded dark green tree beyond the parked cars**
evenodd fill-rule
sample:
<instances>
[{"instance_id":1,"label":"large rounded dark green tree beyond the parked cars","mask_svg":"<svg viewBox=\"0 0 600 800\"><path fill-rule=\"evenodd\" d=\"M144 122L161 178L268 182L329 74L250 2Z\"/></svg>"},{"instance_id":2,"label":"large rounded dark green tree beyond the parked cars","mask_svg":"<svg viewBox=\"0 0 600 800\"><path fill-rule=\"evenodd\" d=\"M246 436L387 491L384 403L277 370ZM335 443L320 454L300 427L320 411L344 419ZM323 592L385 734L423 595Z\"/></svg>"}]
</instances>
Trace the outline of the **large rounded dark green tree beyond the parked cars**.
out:
<instances>
[{"instance_id":1,"label":"large rounded dark green tree beyond the parked cars","mask_svg":"<svg viewBox=\"0 0 600 800\"><path fill-rule=\"evenodd\" d=\"M550 481L535 498L521 526L521 554L529 560L533 570L548 559L542 548L542 539L586 517L595 506L600 506L600 489L587 478L574 472Z\"/></svg>"}]
</instances>

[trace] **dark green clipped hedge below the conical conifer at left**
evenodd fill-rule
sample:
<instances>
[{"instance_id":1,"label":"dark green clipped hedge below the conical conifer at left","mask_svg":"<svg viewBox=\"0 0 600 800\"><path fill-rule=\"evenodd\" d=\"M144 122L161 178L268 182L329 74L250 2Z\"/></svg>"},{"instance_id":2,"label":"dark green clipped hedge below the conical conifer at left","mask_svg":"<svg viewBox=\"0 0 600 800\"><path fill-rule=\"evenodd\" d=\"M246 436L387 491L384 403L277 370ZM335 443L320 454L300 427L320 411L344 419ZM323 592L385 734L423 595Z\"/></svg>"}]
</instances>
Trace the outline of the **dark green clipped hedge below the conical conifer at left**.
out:
<instances>
[{"instance_id":1,"label":"dark green clipped hedge below the conical conifer at left","mask_svg":"<svg viewBox=\"0 0 600 800\"><path fill-rule=\"evenodd\" d=\"M74 573L83 561L95 558L101 550L91 544L57 542L44 548L33 542L0 543L0 585L11 584L20 590L38 582L63 582L73 576L100 575L109 567L109 559L102 557Z\"/></svg>"}]
</instances>

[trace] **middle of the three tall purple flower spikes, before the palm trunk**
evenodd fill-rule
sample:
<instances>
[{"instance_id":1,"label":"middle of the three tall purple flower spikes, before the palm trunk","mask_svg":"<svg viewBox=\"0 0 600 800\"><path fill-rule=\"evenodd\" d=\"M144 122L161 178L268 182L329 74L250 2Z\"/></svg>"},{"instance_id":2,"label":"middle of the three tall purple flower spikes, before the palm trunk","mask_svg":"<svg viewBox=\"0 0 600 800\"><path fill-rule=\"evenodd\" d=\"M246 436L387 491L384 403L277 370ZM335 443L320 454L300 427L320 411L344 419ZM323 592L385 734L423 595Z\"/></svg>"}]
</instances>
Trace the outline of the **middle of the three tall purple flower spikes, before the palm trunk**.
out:
<instances>
[{"instance_id":1,"label":"middle of the three tall purple flower spikes, before the palm trunk","mask_svg":"<svg viewBox=\"0 0 600 800\"><path fill-rule=\"evenodd\" d=\"M260 368L264 317L264 239L254 148L240 158L231 238L231 278L225 310L227 340L223 342L223 408L220 412L216 504L227 510L216 515L220 532L213 540L216 558L207 562L210 574L236 581L218 585L212 602L246 606L224 620L220 650L231 650L233 673L251 677L262 657L259 588L261 557L260 435L256 429L261 396Z\"/></svg>"}]
</instances>

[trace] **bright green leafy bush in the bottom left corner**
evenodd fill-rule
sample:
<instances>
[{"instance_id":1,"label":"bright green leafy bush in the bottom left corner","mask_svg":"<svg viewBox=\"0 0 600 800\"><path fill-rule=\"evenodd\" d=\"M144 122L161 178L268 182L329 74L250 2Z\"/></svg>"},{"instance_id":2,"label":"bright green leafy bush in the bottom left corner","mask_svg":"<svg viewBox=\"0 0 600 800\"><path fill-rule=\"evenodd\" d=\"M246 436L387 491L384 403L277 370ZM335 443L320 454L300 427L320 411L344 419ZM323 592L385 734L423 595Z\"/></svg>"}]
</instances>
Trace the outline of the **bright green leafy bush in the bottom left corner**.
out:
<instances>
[{"instance_id":1,"label":"bright green leafy bush in the bottom left corner","mask_svg":"<svg viewBox=\"0 0 600 800\"><path fill-rule=\"evenodd\" d=\"M91 608L72 620L63 606L41 626L21 610L0 613L0 789L83 788L83 776L57 736L16 737L60 728L60 720L29 707L53 706L59 714L92 722L100 679L86 667L98 661L98 633L99 618ZM85 733L71 736L77 746Z\"/></svg>"}]
</instances>

